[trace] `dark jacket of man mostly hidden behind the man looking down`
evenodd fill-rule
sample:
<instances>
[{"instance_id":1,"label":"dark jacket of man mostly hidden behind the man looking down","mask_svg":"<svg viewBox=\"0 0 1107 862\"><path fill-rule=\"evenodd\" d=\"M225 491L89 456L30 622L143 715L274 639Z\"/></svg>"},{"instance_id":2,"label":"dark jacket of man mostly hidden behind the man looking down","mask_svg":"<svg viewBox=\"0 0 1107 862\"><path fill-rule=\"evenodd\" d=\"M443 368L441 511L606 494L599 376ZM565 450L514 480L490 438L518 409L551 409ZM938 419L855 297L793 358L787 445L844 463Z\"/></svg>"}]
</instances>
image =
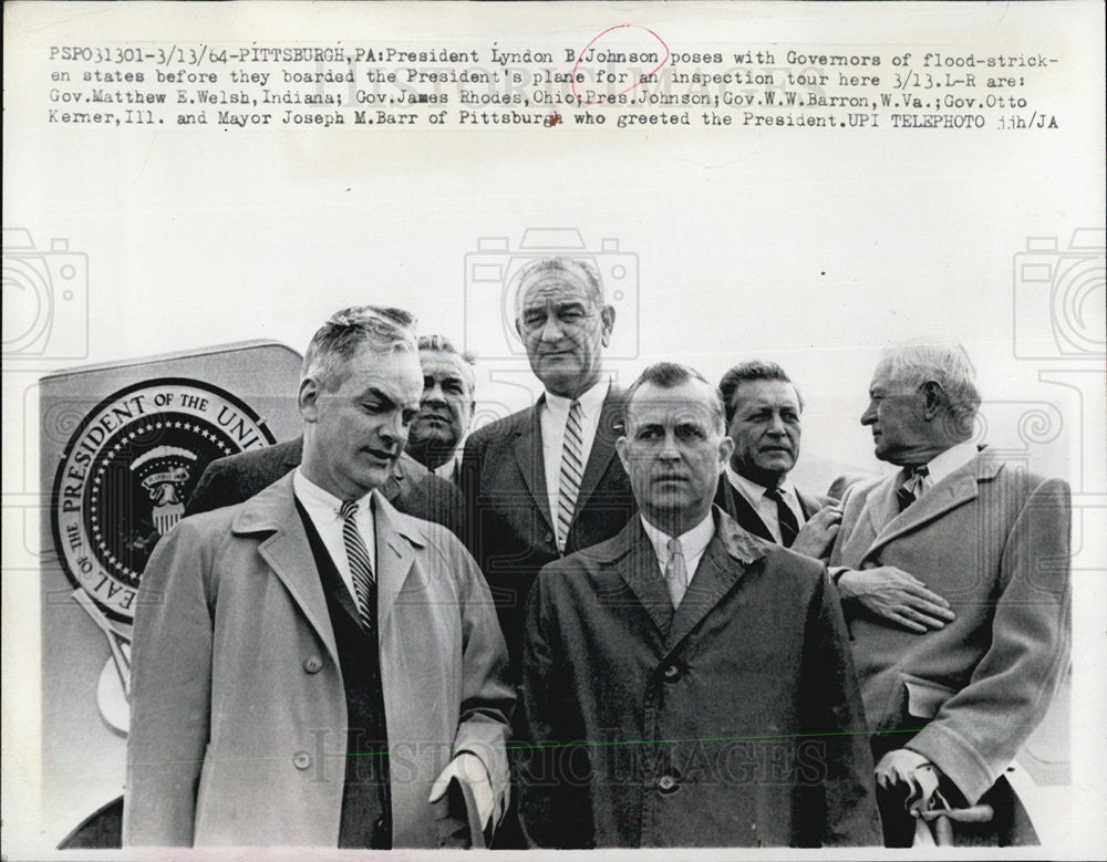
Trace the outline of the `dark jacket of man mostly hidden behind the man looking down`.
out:
<instances>
[{"instance_id":1,"label":"dark jacket of man mostly hidden behind the man looking down","mask_svg":"<svg viewBox=\"0 0 1107 862\"><path fill-rule=\"evenodd\" d=\"M250 449L211 461L188 498L185 515L196 515L248 500L300 464L303 437L265 449ZM457 489L406 453L400 456L381 494L397 511L441 523L464 536L464 510Z\"/></svg>"}]
</instances>

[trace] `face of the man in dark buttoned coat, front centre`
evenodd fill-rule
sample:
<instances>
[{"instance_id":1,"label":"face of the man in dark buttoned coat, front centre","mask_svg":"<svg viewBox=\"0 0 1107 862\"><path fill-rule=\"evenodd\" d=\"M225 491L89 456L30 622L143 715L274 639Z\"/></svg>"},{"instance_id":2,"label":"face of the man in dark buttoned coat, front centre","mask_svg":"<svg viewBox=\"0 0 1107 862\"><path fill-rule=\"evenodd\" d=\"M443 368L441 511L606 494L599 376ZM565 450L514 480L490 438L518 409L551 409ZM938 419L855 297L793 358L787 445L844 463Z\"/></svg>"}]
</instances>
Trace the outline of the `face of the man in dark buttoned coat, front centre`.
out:
<instances>
[{"instance_id":1,"label":"face of the man in dark buttoned coat, front centre","mask_svg":"<svg viewBox=\"0 0 1107 862\"><path fill-rule=\"evenodd\" d=\"M646 520L670 536L694 527L711 510L718 472L731 456L701 381L671 390L643 384L627 407L627 436L615 444L631 490Z\"/></svg>"}]
</instances>

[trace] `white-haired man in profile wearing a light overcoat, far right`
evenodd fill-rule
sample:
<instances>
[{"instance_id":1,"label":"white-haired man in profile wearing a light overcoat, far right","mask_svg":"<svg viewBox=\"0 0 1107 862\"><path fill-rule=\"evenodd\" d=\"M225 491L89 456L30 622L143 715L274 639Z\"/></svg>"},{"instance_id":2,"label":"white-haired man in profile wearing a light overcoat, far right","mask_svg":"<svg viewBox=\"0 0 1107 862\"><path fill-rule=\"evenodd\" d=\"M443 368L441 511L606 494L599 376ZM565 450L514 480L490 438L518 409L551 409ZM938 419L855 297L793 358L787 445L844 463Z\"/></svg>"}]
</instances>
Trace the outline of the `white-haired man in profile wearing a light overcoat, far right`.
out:
<instances>
[{"instance_id":1,"label":"white-haired man in profile wearing a light overcoat, far right","mask_svg":"<svg viewBox=\"0 0 1107 862\"><path fill-rule=\"evenodd\" d=\"M961 346L884 353L861 424L901 469L846 491L830 557L889 847L912 813L977 803L993 821L965 840L1025 840L1002 776L1069 660L1068 486L973 444L979 406Z\"/></svg>"}]
</instances>

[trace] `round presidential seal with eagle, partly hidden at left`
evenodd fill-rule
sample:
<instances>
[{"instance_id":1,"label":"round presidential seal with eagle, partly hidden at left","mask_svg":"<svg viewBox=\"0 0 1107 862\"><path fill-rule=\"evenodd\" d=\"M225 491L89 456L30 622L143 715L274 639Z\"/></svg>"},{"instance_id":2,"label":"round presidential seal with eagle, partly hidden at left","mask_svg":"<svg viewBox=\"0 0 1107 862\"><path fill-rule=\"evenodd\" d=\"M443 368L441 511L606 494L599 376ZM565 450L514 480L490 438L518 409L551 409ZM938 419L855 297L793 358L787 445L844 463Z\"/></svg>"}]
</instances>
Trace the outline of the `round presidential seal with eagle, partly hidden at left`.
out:
<instances>
[{"instance_id":1,"label":"round presidential seal with eagle, partly hidden at left","mask_svg":"<svg viewBox=\"0 0 1107 862\"><path fill-rule=\"evenodd\" d=\"M200 381L152 380L105 398L70 438L54 480L54 546L73 585L130 625L151 552L208 461L273 443L252 409Z\"/></svg>"}]
</instances>

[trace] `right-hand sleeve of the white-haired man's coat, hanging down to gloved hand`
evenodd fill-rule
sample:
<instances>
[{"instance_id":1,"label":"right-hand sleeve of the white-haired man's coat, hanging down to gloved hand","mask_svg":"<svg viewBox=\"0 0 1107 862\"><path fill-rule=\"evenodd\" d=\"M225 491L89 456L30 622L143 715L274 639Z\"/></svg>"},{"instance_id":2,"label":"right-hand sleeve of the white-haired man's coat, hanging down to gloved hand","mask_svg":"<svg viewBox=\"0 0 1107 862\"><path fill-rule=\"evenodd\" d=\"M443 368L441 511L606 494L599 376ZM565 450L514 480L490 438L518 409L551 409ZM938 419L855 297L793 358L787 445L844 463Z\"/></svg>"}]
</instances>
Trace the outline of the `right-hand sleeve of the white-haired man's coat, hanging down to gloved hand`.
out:
<instances>
[{"instance_id":1,"label":"right-hand sleeve of the white-haired man's coat, hanging down to gloved hand","mask_svg":"<svg viewBox=\"0 0 1107 862\"><path fill-rule=\"evenodd\" d=\"M1014 759L1053 699L1072 638L1070 496L1046 479L1004 546L991 645L969 684L906 746L928 757L970 804Z\"/></svg>"}]
</instances>

